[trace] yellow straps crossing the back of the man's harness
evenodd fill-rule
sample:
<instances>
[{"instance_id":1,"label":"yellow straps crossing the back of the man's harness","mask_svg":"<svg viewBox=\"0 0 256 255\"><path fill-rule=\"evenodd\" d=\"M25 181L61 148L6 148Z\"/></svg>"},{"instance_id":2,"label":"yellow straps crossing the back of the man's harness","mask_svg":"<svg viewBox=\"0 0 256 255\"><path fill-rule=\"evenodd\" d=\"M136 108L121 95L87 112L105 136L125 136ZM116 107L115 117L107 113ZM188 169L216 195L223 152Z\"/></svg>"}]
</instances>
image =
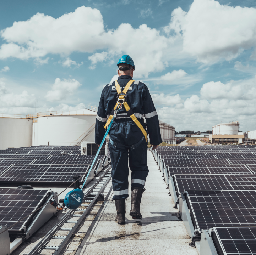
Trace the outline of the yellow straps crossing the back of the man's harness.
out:
<instances>
[{"instance_id":1,"label":"yellow straps crossing the back of the man's harness","mask_svg":"<svg viewBox=\"0 0 256 255\"><path fill-rule=\"evenodd\" d=\"M125 100L126 93L127 93L127 91L129 90L129 87L131 86L131 84L132 84L133 82L134 82L134 80L130 80L130 81L126 84L124 90L121 91L119 83L117 82L117 80L115 81L115 87L116 87L117 94L121 94L121 95L118 95L118 100L120 100L120 99L121 99L121 100ZM114 109L116 108L116 105L117 105L117 104L118 104L118 102L116 102ZM126 109L126 112L127 112L128 116L131 117L131 119L134 121L134 123L140 128L142 134L144 135L144 137L145 137L145 139L146 139L146 141L147 141L147 140L148 140L148 135L147 135L146 130L143 128L143 126L141 125L140 121L138 121L138 119L135 117L134 113L132 112L132 110L131 110L131 108L129 107L129 105L127 104L127 102L125 101L123 104L124 104L124 107L125 107L125 109ZM113 110L113 111L114 111L114 110ZM112 120L112 118L113 118L113 115L114 115L113 111L111 112L111 114L110 114L110 116L109 116L109 118L108 118L108 120L107 120L107 123L106 123L106 125L104 126L104 128L106 128L106 127L109 125L109 123L111 122L111 120ZM113 114L112 114L112 113L113 113Z\"/></svg>"}]
</instances>

